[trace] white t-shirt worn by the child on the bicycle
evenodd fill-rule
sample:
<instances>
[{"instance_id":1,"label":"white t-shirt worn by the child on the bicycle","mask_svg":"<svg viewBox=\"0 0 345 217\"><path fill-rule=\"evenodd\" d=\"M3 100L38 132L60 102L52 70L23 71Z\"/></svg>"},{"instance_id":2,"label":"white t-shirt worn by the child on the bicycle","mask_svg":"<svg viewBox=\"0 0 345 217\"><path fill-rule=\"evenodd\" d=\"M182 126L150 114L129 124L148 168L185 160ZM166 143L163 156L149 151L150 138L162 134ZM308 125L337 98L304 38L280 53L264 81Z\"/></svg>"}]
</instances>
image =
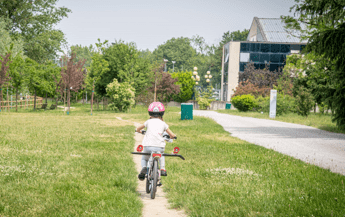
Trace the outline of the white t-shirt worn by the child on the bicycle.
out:
<instances>
[{"instance_id":1,"label":"white t-shirt worn by the child on the bicycle","mask_svg":"<svg viewBox=\"0 0 345 217\"><path fill-rule=\"evenodd\" d=\"M159 118L149 119L144 125L147 130L142 145L165 148L163 133L169 126Z\"/></svg>"}]
</instances>

